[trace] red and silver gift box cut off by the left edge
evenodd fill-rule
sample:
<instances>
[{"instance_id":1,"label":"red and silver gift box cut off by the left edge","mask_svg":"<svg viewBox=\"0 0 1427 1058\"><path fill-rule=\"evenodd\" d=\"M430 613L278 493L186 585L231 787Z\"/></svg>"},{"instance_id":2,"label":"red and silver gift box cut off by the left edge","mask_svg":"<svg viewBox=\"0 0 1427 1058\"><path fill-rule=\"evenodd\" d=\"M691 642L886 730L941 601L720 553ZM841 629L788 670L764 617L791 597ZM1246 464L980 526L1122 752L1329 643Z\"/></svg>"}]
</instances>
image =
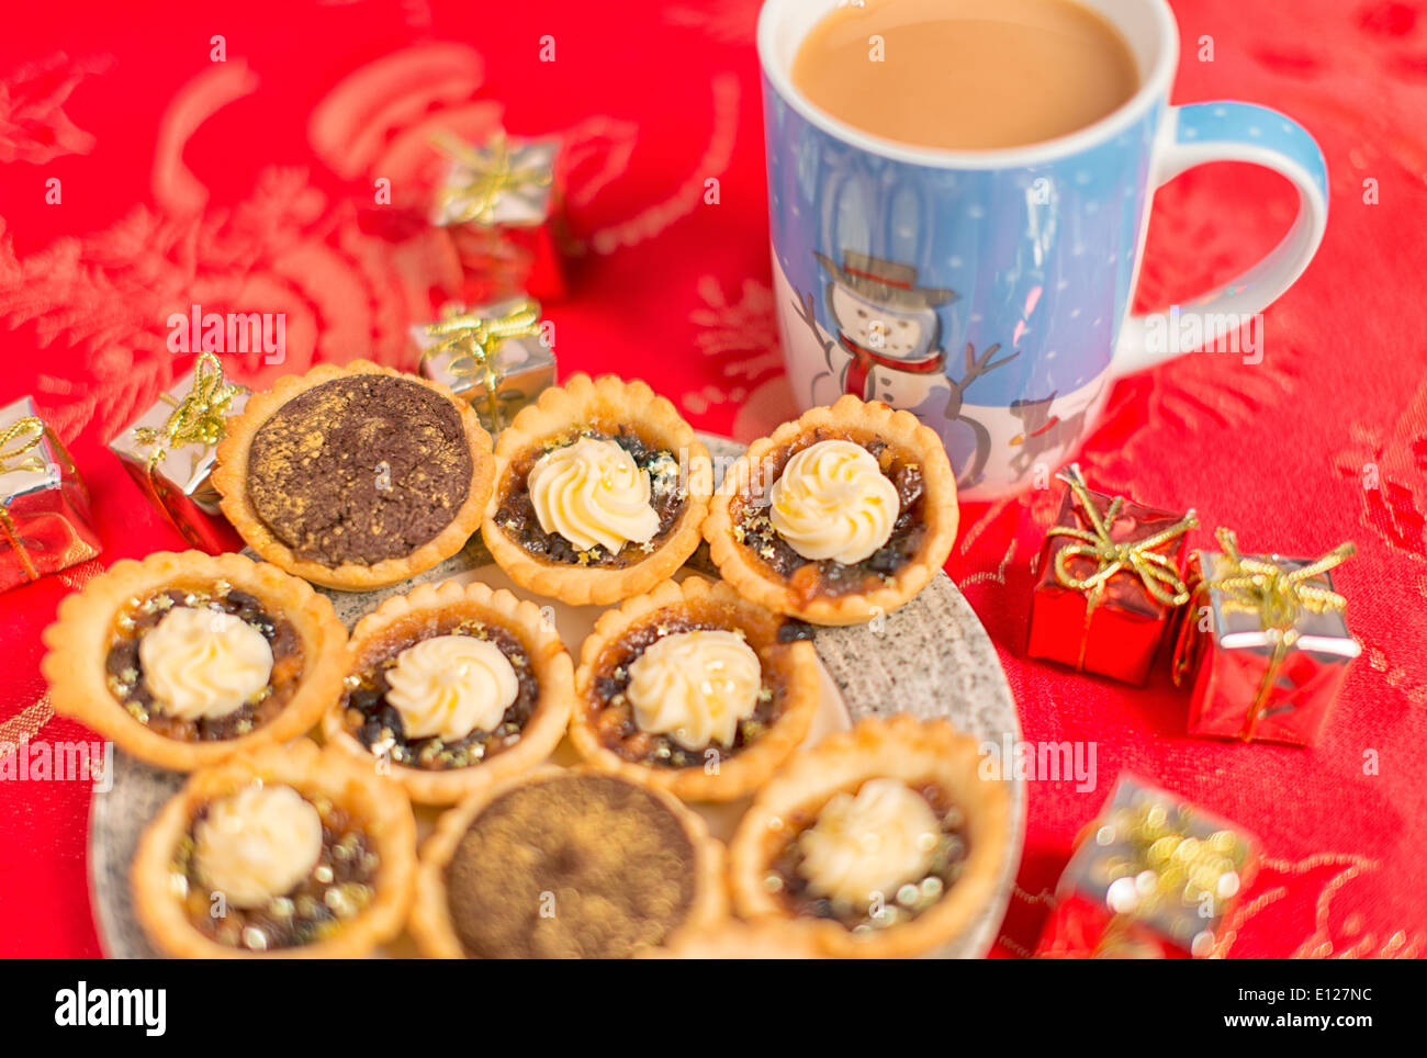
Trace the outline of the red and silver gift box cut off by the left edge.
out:
<instances>
[{"instance_id":1,"label":"red and silver gift box cut off by the left edge","mask_svg":"<svg viewBox=\"0 0 1427 1058\"><path fill-rule=\"evenodd\" d=\"M88 489L23 396L0 408L0 592L100 553Z\"/></svg>"}]
</instances>

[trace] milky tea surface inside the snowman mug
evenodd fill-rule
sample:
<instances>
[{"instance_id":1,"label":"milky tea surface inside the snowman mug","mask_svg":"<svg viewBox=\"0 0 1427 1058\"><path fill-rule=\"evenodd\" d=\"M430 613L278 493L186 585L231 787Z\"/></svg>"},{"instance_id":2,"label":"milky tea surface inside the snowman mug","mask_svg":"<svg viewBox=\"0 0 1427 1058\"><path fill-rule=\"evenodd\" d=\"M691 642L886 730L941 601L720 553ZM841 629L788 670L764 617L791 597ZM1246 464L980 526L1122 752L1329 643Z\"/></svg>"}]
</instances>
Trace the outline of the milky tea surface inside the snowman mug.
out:
<instances>
[{"instance_id":1,"label":"milky tea surface inside the snowman mug","mask_svg":"<svg viewBox=\"0 0 1427 1058\"><path fill-rule=\"evenodd\" d=\"M793 84L873 135L983 150L1085 128L1139 73L1119 30L1075 0L858 0L812 27Z\"/></svg>"}]
</instances>

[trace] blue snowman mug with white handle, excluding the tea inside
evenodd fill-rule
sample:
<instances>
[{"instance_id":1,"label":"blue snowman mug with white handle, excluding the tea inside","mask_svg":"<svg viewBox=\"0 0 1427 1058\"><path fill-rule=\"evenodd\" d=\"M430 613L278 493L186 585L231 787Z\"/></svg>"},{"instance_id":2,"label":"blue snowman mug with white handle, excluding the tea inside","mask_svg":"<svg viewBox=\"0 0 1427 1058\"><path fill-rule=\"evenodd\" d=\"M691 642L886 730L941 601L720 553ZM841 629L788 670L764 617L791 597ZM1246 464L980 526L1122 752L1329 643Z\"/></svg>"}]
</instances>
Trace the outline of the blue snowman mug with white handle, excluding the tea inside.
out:
<instances>
[{"instance_id":1,"label":"blue snowman mug with white handle, excluding the tea inside","mask_svg":"<svg viewBox=\"0 0 1427 1058\"><path fill-rule=\"evenodd\" d=\"M766 0L758 21L783 358L805 408L856 394L915 412L942 436L962 499L1043 485L1113 379L1200 346L1237 351L1313 260L1323 153L1266 107L1169 106L1179 31L1166 0L1080 0L1130 46L1139 91L1069 135L985 151L883 140L798 91L798 46L839 3ZM1212 161L1287 177L1293 227L1196 302L1132 315L1154 188Z\"/></svg>"}]
</instances>

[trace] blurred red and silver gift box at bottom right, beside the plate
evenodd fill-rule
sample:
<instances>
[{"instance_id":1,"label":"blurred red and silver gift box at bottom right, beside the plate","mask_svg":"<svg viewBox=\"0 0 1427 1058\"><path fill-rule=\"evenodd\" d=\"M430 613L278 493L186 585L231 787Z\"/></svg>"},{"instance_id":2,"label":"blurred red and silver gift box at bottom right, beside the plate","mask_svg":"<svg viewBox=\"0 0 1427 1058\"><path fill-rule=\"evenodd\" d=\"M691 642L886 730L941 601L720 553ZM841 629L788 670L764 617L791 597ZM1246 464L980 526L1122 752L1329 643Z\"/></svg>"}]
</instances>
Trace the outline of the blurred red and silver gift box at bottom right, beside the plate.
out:
<instances>
[{"instance_id":1,"label":"blurred red and silver gift box at bottom right, beside the plate","mask_svg":"<svg viewBox=\"0 0 1427 1058\"><path fill-rule=\"evenodd\" d=\"M1243 828L1123 774L1076 840L1037 958L1206 958L1259 868Z\"/></svg>"}]
</instances>

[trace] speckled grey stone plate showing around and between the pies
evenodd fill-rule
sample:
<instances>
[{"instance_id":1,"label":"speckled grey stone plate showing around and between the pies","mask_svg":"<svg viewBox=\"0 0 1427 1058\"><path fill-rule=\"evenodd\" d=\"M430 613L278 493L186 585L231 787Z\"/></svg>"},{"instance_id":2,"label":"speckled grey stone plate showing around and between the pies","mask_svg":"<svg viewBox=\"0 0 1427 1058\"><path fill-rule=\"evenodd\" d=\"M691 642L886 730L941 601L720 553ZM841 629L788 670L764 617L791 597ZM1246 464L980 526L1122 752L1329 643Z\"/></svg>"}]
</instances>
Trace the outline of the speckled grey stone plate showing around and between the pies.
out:
<instances>
[{"instance_id":1,"label":"speckled grey stone plate showing around and between the pies","mask_svg":"<svg viewBox=\"0 0 1427 1058\"><path fill-rule=\"evenodd\" d=\"M702 439L715 456L732 456L739 451L725 438L705 435ZM726 463L716 461L716 465ZM701 573L716 573L708 562L705 548L689 560L689 567ZM360 593L321 590L331 597L337 615L351 627L382 599L408 592L422 580L450 577L481 579L535 597L515 589L505 579L491 562L479 536L472 538L459 555L394 587ZM538 597L537 602L548 603ZM558 605L552 609L557 626L578 660L579 637L594 625L599 609ZM945 719L979 741L993 741L997 746L1007 733L1012 739L1020 739L1015 700L996 659L996 649L976 613L945 573L938 573L910 603L878 622L819 629L813 644L823 669L825 700L809 734L809 744L865 716L889 713ZM572 761L574 756L562 746L555 760ZM128 864L144 827L158 814L164 801L178 791L184 776L150 767L117 750L113 770L110 789L96 793L90 803L88 875L96 925L100 943L111 958L154 958L156 952L134 918ZM706 810L695 807L709 820L711 830L726 838L745 804L712 806ZM418 808L422 834L435 814L434 810ZM1025 818L1026 787L1017 779L1012 783L1006 858L1000 864L996 897L965 934L936 954L977 958L990 950L1006 914L1010 885L1020 863ZM410 940L401 938L387 954L411 955L415 950Z\"/></svg>"}]
</instances>

